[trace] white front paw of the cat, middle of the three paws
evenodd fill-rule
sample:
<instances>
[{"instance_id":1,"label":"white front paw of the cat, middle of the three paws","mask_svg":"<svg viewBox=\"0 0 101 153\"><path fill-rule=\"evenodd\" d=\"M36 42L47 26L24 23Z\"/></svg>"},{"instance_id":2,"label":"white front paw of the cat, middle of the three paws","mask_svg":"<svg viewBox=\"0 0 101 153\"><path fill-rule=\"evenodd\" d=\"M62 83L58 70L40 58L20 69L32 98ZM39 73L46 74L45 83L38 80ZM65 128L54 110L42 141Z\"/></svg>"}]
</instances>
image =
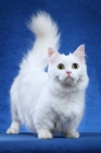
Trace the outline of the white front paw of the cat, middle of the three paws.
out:
<instances>
[{"instance_id":1,"label":"white front paw of the cat, middle of the three paws","mask_svg":"<svg viewBox=\"0 0 101 153\"><path fill-rule=\"evenodd\" d=\"M39 130L38 138L39 139L52 139L52 133L48 130Z\"/></svg>"}]
</instances>

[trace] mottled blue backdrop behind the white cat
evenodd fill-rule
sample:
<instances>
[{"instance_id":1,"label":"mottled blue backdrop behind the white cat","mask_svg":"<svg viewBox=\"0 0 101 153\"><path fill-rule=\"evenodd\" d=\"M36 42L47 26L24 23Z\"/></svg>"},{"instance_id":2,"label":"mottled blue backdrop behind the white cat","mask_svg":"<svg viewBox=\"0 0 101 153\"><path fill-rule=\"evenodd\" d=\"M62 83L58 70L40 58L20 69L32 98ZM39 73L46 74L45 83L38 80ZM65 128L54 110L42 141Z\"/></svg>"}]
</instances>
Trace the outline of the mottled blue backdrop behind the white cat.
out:
<instances>
[{"instance_id":1,"label":"mottled blue backdrop behind the white cat","mask_svg":"<svg viewBox=\"0 0 101 153\"><path fill-rule=\"evenodd\" d=\"M11 123L9 90L23 55L35 39L26 22L38 10L47 11L58 23L60 52L68 54L79 45L86 45L90 82L78 130L101 132L100 0L0 0L0 132L5 132Z\"/></svg>"}]
</instances>

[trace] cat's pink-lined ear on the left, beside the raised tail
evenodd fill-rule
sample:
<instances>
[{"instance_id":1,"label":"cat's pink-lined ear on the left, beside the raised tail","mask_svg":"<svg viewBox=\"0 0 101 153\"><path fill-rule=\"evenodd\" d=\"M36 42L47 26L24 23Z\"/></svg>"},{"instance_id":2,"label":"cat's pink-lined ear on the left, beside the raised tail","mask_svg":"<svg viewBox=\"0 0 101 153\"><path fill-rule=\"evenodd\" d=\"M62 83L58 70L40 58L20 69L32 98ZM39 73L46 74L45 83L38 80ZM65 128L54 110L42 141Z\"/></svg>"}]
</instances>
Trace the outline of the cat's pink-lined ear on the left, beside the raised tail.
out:
<instances>
[{"instance_id":1,"label":"cat's pink-lined ear on the left, beside the raised tail","mask_svg":"<svg viewBox=\"0 0 101 153\"><path fill-rule=\"evenodd\" d=\"M48 56L49 56L50 62L53 63L58 59L60 54L58 51L55 51L54 49L49 48Z\"/></svg>"}]
</instances>

